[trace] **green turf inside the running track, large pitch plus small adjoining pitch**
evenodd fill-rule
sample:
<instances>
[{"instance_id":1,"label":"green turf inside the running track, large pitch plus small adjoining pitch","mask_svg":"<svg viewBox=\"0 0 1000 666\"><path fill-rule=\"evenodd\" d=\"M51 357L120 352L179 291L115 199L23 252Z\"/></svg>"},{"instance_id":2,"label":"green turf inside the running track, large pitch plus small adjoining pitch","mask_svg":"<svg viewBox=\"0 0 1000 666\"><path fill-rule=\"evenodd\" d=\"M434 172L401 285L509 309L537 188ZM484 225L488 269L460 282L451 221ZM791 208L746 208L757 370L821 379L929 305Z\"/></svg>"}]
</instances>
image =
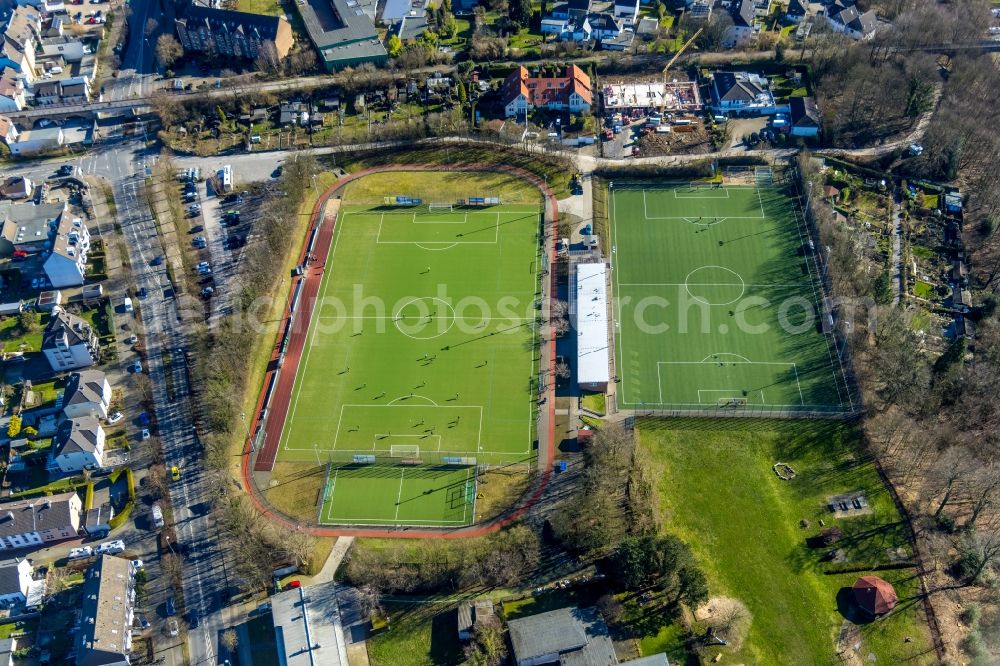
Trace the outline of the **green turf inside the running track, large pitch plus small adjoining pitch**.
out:
<instances>
[{"instance_id":1,"label":"green turf inside the running track, large pitch plus small adjoining pitch","mask_svg":"<svg viewBox=\"0 0 1000 666\"><path fill-rule=\"evenodd\" d=\"M329 463L320 522L470 524L476 465L530 462L539 215L341 207L279 450Z\"/></svg>"}]
</instances>

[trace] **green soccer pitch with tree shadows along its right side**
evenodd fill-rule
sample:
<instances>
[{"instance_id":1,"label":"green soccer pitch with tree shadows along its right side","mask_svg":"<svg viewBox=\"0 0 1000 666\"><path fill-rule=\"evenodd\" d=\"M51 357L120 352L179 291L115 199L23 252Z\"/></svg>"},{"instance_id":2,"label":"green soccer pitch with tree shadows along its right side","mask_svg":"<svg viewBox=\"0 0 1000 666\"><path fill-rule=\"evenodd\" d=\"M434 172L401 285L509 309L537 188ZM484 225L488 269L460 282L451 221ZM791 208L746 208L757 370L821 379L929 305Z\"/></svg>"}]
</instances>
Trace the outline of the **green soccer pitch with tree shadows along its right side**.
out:
<instances>
[{"instance_id":1,"label":"green soccer pitch with tree shadows along its right side","mask_svg":"<svg viewBox=\"0 0 1000 666\"><path fill-rule=\"evenodd\" d=\"M619 404L853 410L785 191L616 182L610 199Z\"/></svg>"}]
</instances>

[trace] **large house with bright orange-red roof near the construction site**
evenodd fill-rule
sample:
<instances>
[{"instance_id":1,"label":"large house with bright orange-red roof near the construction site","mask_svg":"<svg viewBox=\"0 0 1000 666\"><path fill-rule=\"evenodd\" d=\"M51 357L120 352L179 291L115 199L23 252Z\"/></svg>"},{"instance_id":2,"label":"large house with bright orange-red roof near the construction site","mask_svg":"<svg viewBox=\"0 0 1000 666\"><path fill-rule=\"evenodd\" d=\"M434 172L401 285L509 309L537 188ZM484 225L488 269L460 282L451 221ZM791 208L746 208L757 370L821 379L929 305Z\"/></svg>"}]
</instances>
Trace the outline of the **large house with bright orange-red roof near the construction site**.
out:
<instances>
[{"instance_id":1,"label":"large house with bright orange-red roof near the construction site","mask_svg":"<svg viewBox=\"0 0 1000 666\"><path fill-rule=\"evenodd\" d=\"M594 94L590 77L576 65L566 68L566 75L553 78L533 78L528 70L518 67L511 72L500 89L504 115L507 118L524 116L531 109L580 113L590 111Z\"/></svg>"}]
</instances>

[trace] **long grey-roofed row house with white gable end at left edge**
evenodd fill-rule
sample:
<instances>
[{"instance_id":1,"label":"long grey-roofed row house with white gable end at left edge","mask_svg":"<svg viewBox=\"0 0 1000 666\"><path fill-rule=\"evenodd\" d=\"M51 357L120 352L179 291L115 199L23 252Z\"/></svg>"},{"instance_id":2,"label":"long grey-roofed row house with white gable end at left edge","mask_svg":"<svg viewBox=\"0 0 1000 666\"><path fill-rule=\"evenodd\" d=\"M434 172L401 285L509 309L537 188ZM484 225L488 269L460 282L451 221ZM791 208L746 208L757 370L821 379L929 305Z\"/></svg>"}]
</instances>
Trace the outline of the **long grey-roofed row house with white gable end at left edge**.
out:
<instances>
[{"instance_id":1,"label":"long grey-roofed row house with white gable end at left edge","mask_svg":"<svg viewBox=\"0 0 1000 666\"><path fill-rule=\"evenodd\" d=\"M38 547L72 539L83 502L76 492L0 504L0 550Z\"/></svg>"}]
</instances>

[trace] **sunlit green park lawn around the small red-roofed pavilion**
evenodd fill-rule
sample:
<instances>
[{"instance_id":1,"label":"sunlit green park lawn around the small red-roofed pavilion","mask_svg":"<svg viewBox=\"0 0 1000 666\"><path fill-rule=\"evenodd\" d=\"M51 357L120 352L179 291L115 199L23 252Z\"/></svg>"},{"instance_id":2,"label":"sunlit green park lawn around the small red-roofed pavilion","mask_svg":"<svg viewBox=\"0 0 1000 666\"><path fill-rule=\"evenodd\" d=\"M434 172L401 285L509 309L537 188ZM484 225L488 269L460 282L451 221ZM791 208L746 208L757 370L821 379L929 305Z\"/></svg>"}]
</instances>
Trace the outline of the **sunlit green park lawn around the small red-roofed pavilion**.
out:
<instances>
[{"instance_id":1,"label":"sunlit green park lawn around the small red-roofed pavilion","mask_svg":"<svg viewBox=\"0 0 1000 666\"><path fill-rule=\"evenodd\" d=\"M845 623L838 605L847 609L846 588L868 571L824 573L832 566L820 561L828 549L809 548L806 539L818 535L820 520L840 527L837 547L862 569L909 553L900 515L860 453L858 431L841 422L678 419L644 421L639 432L660 479L668 529L691 544L711 594L741 600L752 615L742 649L724 652L722 663L835 663ZM772 471L777 462L797 476L780 480ZM872 512L834 518L827 497L857 490L867 493ZM808 527L800 526L804 520ZM934 663L914 571L878 575L895 585L900 604L860 626L860 654L885 664ZM671 631L650 631L640 639L643 651L662 649Z\"/></svg>"}]
</instances>

